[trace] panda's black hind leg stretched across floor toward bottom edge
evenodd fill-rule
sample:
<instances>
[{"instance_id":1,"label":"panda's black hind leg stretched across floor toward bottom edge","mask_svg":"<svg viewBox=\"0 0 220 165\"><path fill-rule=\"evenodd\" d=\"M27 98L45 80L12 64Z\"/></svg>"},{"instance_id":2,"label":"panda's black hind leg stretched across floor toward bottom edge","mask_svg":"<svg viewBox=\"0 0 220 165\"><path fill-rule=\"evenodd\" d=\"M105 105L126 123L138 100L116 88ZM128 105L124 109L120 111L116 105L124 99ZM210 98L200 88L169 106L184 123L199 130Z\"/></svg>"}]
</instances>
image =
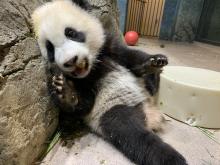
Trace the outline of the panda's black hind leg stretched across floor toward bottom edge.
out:
<instances>
[{"instance_id":1,"label":"panda's black hind leg stretched across floor toward bottom edge","mask_svg":"<svg viewBox=\"0 0 220 165\"><path fill-rule=\"evenodd\" d=\"M117 105L106 112L103 137L138 165L187 165L172 147L144 127L141 106Z\"/></svg>"}]
</instances>

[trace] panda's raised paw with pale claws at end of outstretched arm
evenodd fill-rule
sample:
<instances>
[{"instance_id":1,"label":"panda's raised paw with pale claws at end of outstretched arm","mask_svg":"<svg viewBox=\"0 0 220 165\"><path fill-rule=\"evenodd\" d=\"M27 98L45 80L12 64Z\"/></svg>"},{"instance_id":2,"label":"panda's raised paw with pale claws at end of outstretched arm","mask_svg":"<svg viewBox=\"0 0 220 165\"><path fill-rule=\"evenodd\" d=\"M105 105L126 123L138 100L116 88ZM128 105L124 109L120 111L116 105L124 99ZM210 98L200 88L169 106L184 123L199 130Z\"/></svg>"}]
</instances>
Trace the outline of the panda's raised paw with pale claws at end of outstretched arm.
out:
<instances>
[{"instance_id":1,"label":"panda's raised paw with pale claws at end of outstretched arm","mask_svg":"<svg viewBox=\"0 0 220 165\"><path fill-rule=\"evenodd\" d=\"M160 68L168 64L168 59L166 56L158 54L151 57L150 62L151 62L151 66Z\"/></svg>"}]
</instances>

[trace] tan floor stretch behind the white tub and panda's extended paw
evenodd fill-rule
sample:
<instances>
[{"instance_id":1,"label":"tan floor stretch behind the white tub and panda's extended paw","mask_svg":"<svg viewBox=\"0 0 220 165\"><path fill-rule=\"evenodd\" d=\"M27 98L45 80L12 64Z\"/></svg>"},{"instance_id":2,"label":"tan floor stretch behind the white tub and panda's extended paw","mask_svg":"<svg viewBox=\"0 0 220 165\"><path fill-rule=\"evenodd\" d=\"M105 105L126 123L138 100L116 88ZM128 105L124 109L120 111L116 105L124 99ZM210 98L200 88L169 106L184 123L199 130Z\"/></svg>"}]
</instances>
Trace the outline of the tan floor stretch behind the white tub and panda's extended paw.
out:
<instances>
[{"instance_id":1,"label":"tan floor stretch behind the white tub and panda's extended paw","mask_svg":"<svg viewBox=\"0 0 220 165\"><path fill-rule=\"evenodd\" d=\"M160 45L164 45L161 48ZM148 53L168 56L169 65L184 65L220 71L220 47L201 42L182 43L141 38L138 46Z\"/></svg>"}]
</instances>

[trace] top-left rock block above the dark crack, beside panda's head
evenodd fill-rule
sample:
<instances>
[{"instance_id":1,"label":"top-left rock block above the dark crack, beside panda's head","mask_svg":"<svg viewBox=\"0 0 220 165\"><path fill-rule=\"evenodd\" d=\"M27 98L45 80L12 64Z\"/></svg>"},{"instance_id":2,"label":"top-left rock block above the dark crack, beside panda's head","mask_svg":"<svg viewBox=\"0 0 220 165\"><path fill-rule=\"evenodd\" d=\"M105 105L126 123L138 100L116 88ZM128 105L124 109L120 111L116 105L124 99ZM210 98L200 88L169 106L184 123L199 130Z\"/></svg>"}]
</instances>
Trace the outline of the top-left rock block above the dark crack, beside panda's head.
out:
<instances>
[{"instance_id":1,"label":"top-left rock block above the dark crack, beside panda's head","mask_svg":"<svg viewBox=\"0 0 220 165\"><path fill-rule=\"evenodd\" d=\"M12 45L29 34L30 14L42 1L0 1L0 48Z\"/></svg>"}]
</instances>

